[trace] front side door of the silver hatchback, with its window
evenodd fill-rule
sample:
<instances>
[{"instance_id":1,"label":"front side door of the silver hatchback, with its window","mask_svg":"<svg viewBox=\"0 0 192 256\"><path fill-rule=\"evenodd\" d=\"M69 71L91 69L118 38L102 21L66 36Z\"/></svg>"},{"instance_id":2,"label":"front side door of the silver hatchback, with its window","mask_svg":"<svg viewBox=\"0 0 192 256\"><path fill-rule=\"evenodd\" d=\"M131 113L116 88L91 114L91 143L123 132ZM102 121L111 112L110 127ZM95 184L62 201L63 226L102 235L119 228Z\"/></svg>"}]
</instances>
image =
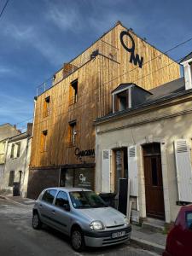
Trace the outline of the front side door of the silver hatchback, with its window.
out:
<instances>
[{"instance_id":1,"label":"front side door of the silver hatchback, with its window","mask_svg":"<svg viewBox=\"0 0 192 256\"><path fill-rule=\"evenodd\" d=\"M55 198L55 226L65 234L70 234L71 212L68 195L65 191L59 191Z\"/></svg>"}]
</instances>

